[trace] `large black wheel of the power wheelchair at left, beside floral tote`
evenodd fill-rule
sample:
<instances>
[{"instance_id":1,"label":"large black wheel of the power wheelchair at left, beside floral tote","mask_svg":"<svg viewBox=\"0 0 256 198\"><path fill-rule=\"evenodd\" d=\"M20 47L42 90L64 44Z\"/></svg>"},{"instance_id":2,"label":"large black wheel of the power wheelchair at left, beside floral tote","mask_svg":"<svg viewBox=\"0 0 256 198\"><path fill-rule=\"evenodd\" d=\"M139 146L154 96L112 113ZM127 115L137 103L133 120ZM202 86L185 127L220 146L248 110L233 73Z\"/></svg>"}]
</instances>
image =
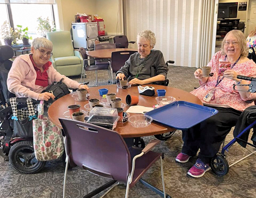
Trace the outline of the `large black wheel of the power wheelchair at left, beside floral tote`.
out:
<instances>
[{"instance_id":1,"label":"large black wheel of the power wheelchair at left, beside floral tote","mask_svg":"<svg viewBox=\"0 0 256 198\"><path fill-rule=\"evenodd\" d=\"M38 173L46 164L35 158L32 140L23 140L11 146L9 161L11 167L23 174Z\"/></svg>"}]
</instances>

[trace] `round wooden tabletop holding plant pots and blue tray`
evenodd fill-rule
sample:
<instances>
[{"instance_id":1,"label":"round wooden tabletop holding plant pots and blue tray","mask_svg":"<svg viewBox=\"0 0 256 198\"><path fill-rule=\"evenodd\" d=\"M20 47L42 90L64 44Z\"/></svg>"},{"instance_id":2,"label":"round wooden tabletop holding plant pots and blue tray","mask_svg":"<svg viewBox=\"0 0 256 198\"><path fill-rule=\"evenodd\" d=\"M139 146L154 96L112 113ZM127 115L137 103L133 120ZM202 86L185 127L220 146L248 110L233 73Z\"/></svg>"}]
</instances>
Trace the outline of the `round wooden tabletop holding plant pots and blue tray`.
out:
<instances>
[{"instance_id":1,"label":"round wooden tabletop holding plant pots and blue tray","mask_svg":"<svg viewBox=\"0 0 256 198\"><path fill-rule=\"evenodd\" d=\"M146 85L143 85L143 86L146 86ZM196 96L186 91L179 90L178 88L166 87L161 85L147 85L147 86L155 87L155 93L156 93L156 90L164 89L166 90L166 95L172 96L176 98L176 100L184 100L190 103L203 105L202 101L200 101ZM104 85L99 87L90 87L90 90L89 90L90 98L98 98L101 100L102 97L100 97L99 91L98 91L100 88L107 88L108 93L117 93L117 97L122 98L123 103L125 103L126 95L130 94L130 95L137 95L139 97L138 105L153 107L153 105L157 104L155 100L155 98L157 97L157 93L155 94L156 96L140 95L138 93L137 86L131 86L131 88L128 88L126 90L118 89L117 85ZM48 109L48 117L50 118L51 122L57 125L58 127L62 128L58 118L65 118L64 112L68 111L68 106L73 104L79 104L81 105L81 109L85 110L84 105L88 104L88 100L75 101L74 98L71 97L71 94L68 94L54 101L54 103ZM129 106L126 106L124 108L124 111L126 111L128 108ZM130 113L130 116L132 116L133 114L134 113ZM128 138L128 137L143 137L143 136L158 135L161 133L167 133L167 132L173 131L174 129L159 123L155 123L155 122L152 122L148 127L136 128L136 127L133 127L129 121L127 121L125 123L118 123L117 127L115 127L114 130L119 132L120 135L123 136L124 138Z\"/></svg>"}]
</instances>

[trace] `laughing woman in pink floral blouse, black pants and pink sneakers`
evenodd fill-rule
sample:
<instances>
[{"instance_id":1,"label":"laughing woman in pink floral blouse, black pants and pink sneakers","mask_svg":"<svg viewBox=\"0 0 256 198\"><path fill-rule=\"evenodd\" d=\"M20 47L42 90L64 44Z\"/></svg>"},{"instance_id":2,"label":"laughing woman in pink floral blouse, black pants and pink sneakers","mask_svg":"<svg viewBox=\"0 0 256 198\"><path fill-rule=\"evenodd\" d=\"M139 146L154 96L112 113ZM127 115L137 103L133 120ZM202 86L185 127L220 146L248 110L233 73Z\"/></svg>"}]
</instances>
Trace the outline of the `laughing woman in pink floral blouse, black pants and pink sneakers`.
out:
<instances>
[{"instance_id":1,"label":"laughing woman in pink floral blouse, black pants and pink sneakers","mask_svg":"<svg viewBox=\"0 0 256 198\"><path fill-rule=\"evenodd\" d=\"M192 177L202 177L210 170L210 160L220 150L225 136L235 126L242 111L253 105L246 101L256 99L256 93L247 92L246 86L240 86L239 91L233 90L234 84L248 84L245 80L237 79L237 75L256 76L256 65L247 55L245 35L239 30L232 30L224 37L221 51L208 63L214 76L203 76L201 69L194 72L200 87L191 93L205 106L216 108L218 113L182 131L184 145L176 161L185 163L190 157L196 156L200 149L197 162L187 173ZM221 61L230 62L227 63L230 67L223 74L220 74Z\"/></svg>"}]
</instances>

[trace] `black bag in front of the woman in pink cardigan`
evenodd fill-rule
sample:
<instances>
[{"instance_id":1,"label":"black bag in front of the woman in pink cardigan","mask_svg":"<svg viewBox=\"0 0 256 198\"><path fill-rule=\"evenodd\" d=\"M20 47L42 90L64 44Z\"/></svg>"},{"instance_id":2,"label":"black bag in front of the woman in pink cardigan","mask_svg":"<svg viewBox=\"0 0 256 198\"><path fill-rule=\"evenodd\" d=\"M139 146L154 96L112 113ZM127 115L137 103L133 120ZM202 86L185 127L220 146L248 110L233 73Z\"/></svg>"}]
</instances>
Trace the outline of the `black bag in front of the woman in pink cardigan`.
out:
<instances>
[{"instance_id":1,"label":"black bag in front of the woman in pink cardigan","mask_svg":"<svg viewBox=\"0 0 256 198\"><path fill-rule=\"evenodd\" d=\"M55 96L54 100L57 100L61 97L63 97L66 94L69 94L69 88L66 86L66 84L63 82L64 79L61 79L59 82L53 82L51 85L49 85L42 93L44 92L50 92Z\"/></svg>"}]
</instances>

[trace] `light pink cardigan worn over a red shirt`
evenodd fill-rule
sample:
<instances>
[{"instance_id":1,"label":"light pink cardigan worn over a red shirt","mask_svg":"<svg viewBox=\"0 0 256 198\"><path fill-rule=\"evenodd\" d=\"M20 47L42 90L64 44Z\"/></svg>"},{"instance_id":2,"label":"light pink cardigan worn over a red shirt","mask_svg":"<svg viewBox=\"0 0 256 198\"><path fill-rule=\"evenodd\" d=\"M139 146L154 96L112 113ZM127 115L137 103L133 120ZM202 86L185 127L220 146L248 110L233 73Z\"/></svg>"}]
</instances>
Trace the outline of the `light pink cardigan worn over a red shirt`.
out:
<instances>
[{"instance_id":1,"label":"light pink cardigan worn over a red shirt","mask_svg":"<svg viewBox=\"0 0 256 198\"><path fill-rule=\"evenodd\" d=\"M60 74L51 65L48 70L48 84L52 82L60 81L64 78L65 84L69 88L78 88L80 85L77 81L71 80L65 75ZM29 54L18 56L11 66L8 74L7 86L11 93L14 93L16 97L28 97L38 100L39 94L44 90L44 87L35 85L36 72L32 64Z\"/></svg>"}]
</instances>

